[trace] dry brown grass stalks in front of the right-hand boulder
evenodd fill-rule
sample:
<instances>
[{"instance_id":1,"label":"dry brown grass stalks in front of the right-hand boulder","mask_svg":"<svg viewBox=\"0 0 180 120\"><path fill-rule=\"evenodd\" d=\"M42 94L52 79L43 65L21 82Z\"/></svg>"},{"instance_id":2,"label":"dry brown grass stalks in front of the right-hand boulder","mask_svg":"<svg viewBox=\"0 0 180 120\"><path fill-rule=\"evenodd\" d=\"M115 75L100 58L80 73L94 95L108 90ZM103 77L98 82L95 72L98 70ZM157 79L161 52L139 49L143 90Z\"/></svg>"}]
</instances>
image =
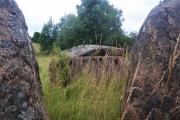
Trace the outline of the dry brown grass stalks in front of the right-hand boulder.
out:
<instances>
[{"instance_id":1,"label":"dry brown grass stalks in front of the right-hand boulder","mask_svg":"<svg viewBox=\"0 0 180 120\"><path fill-rule=\"evenodd\" d=\"M159 103L156 104L156 106L153 106L154 108L151 108L152 106L149 106L149 109L151 109L151 111L150 111L149 114L147 115L146 120L149 119L149 117L151 116L151 114L153 113L153 111L155 111L155 114L157 114L159 111L160 111L160 112L164 112L162 106L166 106L166 105L167 105L167 103L163 103L163 102L164 102L165 97L169 96L168 94L170 93L170 90L168 91L168 89L169 89L169 86L171 86L171 85L170 85L170 82L171 82L171 80L173 80L173 79L177 79L177 78L174 77L174 76L177 76L177 75L174 75L173 78L171 78L171 77L172 77L172 75L173 75L173 69L174 69L174 67L176 67L178 58L179 58L179 56L180 56L180 50L178 49L178 48L179 48L179 45L180 45L180 35L178 35L177 42L176 42L176 44L175 44L175 46L174 46L174 51L173 51L173 53L170 55L167 69L166 69L165 71L163 71L163 74L162 74L161 78L160 78L159 80L157 80L157 83L155 84L152 92L151 92L150 95L148 96L148 99L150 99L150 98L152 97L152 95L156 94L156 96L158 96L158 97L161 98L160 110L158 110L158 111L155 111L155 110L154 110L154 109L156 109L155 107L158 108L158 104L159 104ZM128 116L131 116L131 117L129 117L130 119L134 119L134 120L136 120L137 118L138 118L138 120L140 119L139 116L136 114L136 112L134 112L134 111L135 111L135 108L132 107L135 101L134 101L133 103L130 103L130 98L131 98L131 96L132 96L133 90L134 90L134 89L140 89L140 90L142 90L142 89L139 88L139 87L133 87L133 86L134 86L134 83L135 83L135 79L136 79L136 77L137 77L138 70L140 69L140 68L139 68L140 62L141 62L141 56L140 56L140 58L139 58L139 60L138 60L138 64L137 64L137 67L136 67L136 70L135 70L133 79L132 79L132 81L131 81L131 84L129 85L129 88L128 88L128 90L127 90L128 95L127 95L126 101L125 101L124 106L123 106L123 111L122 111L122 115L121 115L120 120L128 119ZM151 62L151 61L149 61L149 62ZM178 68L178 67L177 67L177 68ZM175 69L177 69L177 68L175 68ZM152 79L152 78L151 78L151 79ZM166 82L164 82L165 79L167 79ZM163 87L163 88L159 87L159 86L161 85L161 83L164 84L164 87ZM171 89L172 89L172 88L171 88ZM162 93L159 92L159 91L161 91ZM143 92L145 92L145 91L143 91ZM156 92L157 92L157 93L156 93ZM168 92L169 92L169 93L168 93ZM161 95L161 94L162 94L162 95ZM170 94L171 94L171 93L170 93ZM173 97L175 97L175 96L173 96ZM178 97L177 97L177 98L178 98ZM144 99L144 100L145 100L145 99ZM177 100L176 100L176 101L177 101ZM141 102L143 102L143 101L141 101ZM172 102L173 102L173 101L172 101ZM137 104L137 103L136 103L136 104ZM164 105L163 105L163 104L164 104ZM141 106L141 107L142 107L142 106ZM179 111L178 111L178 110L180 110L180 106L175 106L174 108L173 108L173 107L174 107L174 106L171 106L171 107L169 108L169 109L171 109L171 111L169 112L169 114L166 113L166 119L167 119L167 120L173 119L173 117L174 117L175 115L179 114ZM167 108L167 109L168 109L168 108ZM136 111L137 111L137 110L136 110ZM129 112L129 114L128 114L128 112ZM143 111L143 112L144 112L144 111ZM158 114L160 114L160 112L159 112ZM144 113L145 113L145 112L144 112ZM152 118L151 118L151 119L152 119ZM157 116L157 119L158 119L158 116ZM161 118L161 119L162 119L162 118ZM178 118L174 118L174 119L178 119ZM173 120L174 120L174 119L173 119Z\"/></svg>"}]
</instances>

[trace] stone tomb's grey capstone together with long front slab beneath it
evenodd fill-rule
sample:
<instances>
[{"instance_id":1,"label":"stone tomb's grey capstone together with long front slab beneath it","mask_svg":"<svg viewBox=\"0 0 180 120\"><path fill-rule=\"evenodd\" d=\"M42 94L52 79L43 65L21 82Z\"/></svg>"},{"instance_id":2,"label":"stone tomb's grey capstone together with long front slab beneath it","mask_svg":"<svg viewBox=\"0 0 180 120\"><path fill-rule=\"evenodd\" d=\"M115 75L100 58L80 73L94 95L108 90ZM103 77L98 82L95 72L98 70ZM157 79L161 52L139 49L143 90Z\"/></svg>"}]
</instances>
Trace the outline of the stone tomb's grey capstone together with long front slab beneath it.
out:
<instances>
[{"instance_id":1,"label":"stone tomb's grey capstone together with long front slab beneath it","mask_svg":"<svg viewBox=\"0 0 180 120\"><path fill-rule=\"evenodd\" d=\"M118 73L125 61L124 49L111 46L79 45L67 50L67 54L70 56L70 78L86 72L96 80L108 80L112 74Z\"/></svg>"}]
</instances>

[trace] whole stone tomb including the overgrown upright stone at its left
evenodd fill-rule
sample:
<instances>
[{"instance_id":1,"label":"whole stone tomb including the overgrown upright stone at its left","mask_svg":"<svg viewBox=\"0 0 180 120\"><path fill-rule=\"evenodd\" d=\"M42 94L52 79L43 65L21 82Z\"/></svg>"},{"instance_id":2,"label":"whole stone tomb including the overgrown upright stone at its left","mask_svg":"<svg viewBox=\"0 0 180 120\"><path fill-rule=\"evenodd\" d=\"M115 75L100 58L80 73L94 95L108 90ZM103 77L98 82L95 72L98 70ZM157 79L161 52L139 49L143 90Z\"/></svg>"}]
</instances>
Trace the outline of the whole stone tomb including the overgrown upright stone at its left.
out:
<instances>
[{"instance_id":1,"label":"whole stone tomb including the overgrown upright stone at its left","mask_svg":"<svg viewBox=\"0 0 180 120\"><path fill-rule=\"evenodd\" d=\"M110 79L120 73L119 69L128 67L128 60L124 59L125 51L121 48L101 45L79 45L66 51L69 56L68 73L65 79L60 79L66 65L61 60L52 59L49 64L49 77L52 85L69 84L80 73L89 73L94 79ZM63 75L64 76L64 75Z\"/></svg>"}]
</instances>

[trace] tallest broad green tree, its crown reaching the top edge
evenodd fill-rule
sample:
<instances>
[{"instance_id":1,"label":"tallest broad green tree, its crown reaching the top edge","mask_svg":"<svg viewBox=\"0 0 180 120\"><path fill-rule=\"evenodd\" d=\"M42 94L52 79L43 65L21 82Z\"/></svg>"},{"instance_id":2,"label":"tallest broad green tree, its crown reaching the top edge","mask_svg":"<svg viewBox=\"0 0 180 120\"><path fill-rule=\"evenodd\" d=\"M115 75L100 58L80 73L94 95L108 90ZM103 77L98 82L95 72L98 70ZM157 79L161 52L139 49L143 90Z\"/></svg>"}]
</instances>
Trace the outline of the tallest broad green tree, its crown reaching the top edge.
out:
<instances>
[{"instance_id":1,"label":"tallest broad green tree, its crown reaching the top edge","mask_svg":"<svg viewBox=\"0 0 180 120\"><path fill-rule=\"evenodd\" d=\"M122 35L122 10L107 0L81 0L77 13L84 24L84 41L92 44L111 44Z\"/></svg>"}]
</instances>

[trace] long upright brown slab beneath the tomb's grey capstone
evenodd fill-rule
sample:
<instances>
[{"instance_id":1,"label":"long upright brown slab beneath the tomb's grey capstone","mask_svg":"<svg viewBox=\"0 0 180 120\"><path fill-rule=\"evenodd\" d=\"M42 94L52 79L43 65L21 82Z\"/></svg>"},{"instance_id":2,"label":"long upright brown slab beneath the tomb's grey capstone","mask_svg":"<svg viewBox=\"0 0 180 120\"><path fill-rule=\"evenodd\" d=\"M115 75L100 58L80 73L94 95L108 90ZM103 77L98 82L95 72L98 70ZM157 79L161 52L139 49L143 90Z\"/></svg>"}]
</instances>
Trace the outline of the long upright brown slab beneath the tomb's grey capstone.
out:
<instances>
[{"instance_id":1,"label":"long upright brown slab beneath the tomb's grey capstone","mask_svg":"<svg viewBox=\"0 0 180 120\"><path fill-rule=\"evenodd\" d=\"M125 59L120 56L81 56L69 60L69 76L77 77L80 73L88 73L95 80L110 80L114 75L120 74L120 70L127 68Z\"/></svg>"}]
</instances>

